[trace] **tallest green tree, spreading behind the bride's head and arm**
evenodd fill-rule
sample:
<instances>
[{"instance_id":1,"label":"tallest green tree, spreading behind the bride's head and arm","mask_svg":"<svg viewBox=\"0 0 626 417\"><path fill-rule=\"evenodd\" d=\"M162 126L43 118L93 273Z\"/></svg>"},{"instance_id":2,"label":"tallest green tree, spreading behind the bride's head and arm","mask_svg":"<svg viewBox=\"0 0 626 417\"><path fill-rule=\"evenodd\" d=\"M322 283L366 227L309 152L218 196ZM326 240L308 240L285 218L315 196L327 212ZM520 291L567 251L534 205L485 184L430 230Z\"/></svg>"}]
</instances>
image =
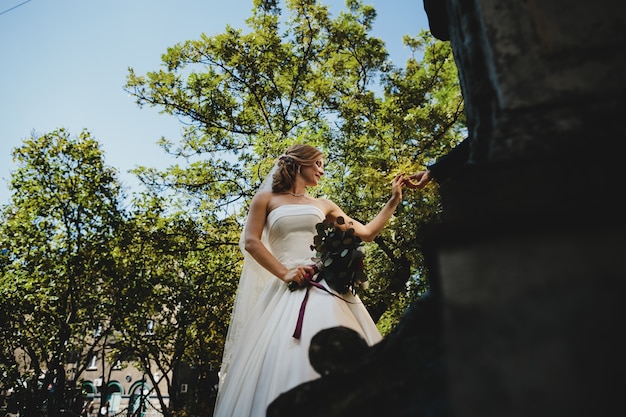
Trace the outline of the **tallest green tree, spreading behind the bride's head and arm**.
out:
<instances>
[{"instance_id":1,"label":"tallest green tree, spreading behind the bride's head and arm","mask_svg":"<svg viewBox=\"0 0 626 417\"><path fill-rule=\"evenodd\" d=\"M284 3L288 16L279 7ZM129 70L126 89L139 106L156 106L185 122L179 141L161 140L186 166L138 170L154 190L169 189L190 215L245 209L269 164L294 142L327 153L318 195L357 218L372 217L392 176L414 171L462 138L463 101L449 47L426 32L405 43L415 53L395 68L370 35L376 11L356 0L332 18L314 0L254 1L249 31L168 49L163 68ZM421 56L418 56L420 55ZM423 58L421 61L418 58ZM435 187L407 192L398 216L371 245L372 287L364 295L375 319L427 289L419 232L436 219Z\"/></svg>"}]
</instances>

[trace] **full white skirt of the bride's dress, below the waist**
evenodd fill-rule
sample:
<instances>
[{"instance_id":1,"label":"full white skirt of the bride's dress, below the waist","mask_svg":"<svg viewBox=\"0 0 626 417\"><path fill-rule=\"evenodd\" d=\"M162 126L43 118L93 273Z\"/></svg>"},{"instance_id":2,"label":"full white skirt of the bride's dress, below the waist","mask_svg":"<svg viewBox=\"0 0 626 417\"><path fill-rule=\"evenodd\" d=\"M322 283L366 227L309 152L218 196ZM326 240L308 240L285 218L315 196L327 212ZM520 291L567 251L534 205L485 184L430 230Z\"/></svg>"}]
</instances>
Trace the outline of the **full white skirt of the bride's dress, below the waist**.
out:
<instances>
[{"instance_id":1,"label":"full white skirt of the bride's dress, below the waist","mask_svg":"<svg viewBox=\"0 0 626 417\"><path fill-rule=\"evenodd\" d=\"M325 285L323 280L321 284ZM308 351L311 338L320 330L345 326L361 334L370 345L381 340L358 297L342 295L355 303L350 304L314 287L309 290L302 335L295 339L304 295L305 290L292 293L278 279L266 288L254 313L258 315L248 322L233 353L220 387L216 417L264 417L267 406L280 394L318 378Z\"/></svg>"}]
</instances>

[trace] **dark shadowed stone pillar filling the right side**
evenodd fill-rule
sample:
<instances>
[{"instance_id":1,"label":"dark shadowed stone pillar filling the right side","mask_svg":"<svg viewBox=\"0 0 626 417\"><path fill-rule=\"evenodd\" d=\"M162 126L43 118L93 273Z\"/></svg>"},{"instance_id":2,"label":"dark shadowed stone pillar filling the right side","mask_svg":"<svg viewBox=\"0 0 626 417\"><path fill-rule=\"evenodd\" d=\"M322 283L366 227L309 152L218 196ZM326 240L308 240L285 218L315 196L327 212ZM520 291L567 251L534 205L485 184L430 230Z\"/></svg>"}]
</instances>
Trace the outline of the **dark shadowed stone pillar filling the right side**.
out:
<instances>
[{"instance_id":1,"label":"dark shadowed stone pillar filling the right side","mask_svg":"<svg viewBox=\"0 0 626 417\"><path fill-rule=\"evenodd\" d=\"M452 414L622 409L626 3L446 4L472 141L430 236Z\"/></svg>"}]
</instances>

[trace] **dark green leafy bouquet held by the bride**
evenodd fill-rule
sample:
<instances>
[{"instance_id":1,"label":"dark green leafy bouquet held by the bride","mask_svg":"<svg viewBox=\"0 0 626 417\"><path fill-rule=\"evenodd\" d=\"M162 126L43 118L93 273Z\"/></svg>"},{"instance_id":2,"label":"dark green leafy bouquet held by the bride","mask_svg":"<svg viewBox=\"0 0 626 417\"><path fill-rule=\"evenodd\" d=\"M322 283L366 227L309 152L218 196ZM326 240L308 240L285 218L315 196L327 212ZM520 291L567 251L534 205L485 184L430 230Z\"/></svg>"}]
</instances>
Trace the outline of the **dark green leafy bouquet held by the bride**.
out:
<instances>
[{"instance_id":1,"label":"dark green leafy bouquet held by the bride","mask_svg":"<svg viewBox=\"0 0 626 417\"><path fill-rule=\"evenodd\" d=\"M323 221L316 225L317 235L313 238L317 253L316 264L320 266L319 279L340 294L356 289L366 288L367 276L363 271L363 242L354 235L354 228L341 230L337 225L345 224L343 217L336 223Z\"/></svg>"}]
</instances>

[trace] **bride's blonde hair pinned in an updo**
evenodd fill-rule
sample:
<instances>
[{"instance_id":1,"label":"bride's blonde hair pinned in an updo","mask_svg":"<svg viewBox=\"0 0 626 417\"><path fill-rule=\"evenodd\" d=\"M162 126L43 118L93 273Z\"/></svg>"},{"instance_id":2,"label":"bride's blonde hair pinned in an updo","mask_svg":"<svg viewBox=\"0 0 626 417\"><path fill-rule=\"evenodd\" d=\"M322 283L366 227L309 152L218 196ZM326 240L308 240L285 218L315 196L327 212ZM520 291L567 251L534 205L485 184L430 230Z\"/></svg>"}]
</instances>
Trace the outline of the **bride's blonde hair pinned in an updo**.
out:
<instances>
[{"instance_id":1,"label":"bride's blonde hair pinned in an updo","mask_svg":"<svg viewBox=\"0 0 626 417\"><path fill-rule=\"evenodd\" d=\"M292 188L301 166L311 166L322 152L311 145L292 145L278 158L278 170L272 178L272 191L280 193Z\"/></svg>"}]
</instances>

